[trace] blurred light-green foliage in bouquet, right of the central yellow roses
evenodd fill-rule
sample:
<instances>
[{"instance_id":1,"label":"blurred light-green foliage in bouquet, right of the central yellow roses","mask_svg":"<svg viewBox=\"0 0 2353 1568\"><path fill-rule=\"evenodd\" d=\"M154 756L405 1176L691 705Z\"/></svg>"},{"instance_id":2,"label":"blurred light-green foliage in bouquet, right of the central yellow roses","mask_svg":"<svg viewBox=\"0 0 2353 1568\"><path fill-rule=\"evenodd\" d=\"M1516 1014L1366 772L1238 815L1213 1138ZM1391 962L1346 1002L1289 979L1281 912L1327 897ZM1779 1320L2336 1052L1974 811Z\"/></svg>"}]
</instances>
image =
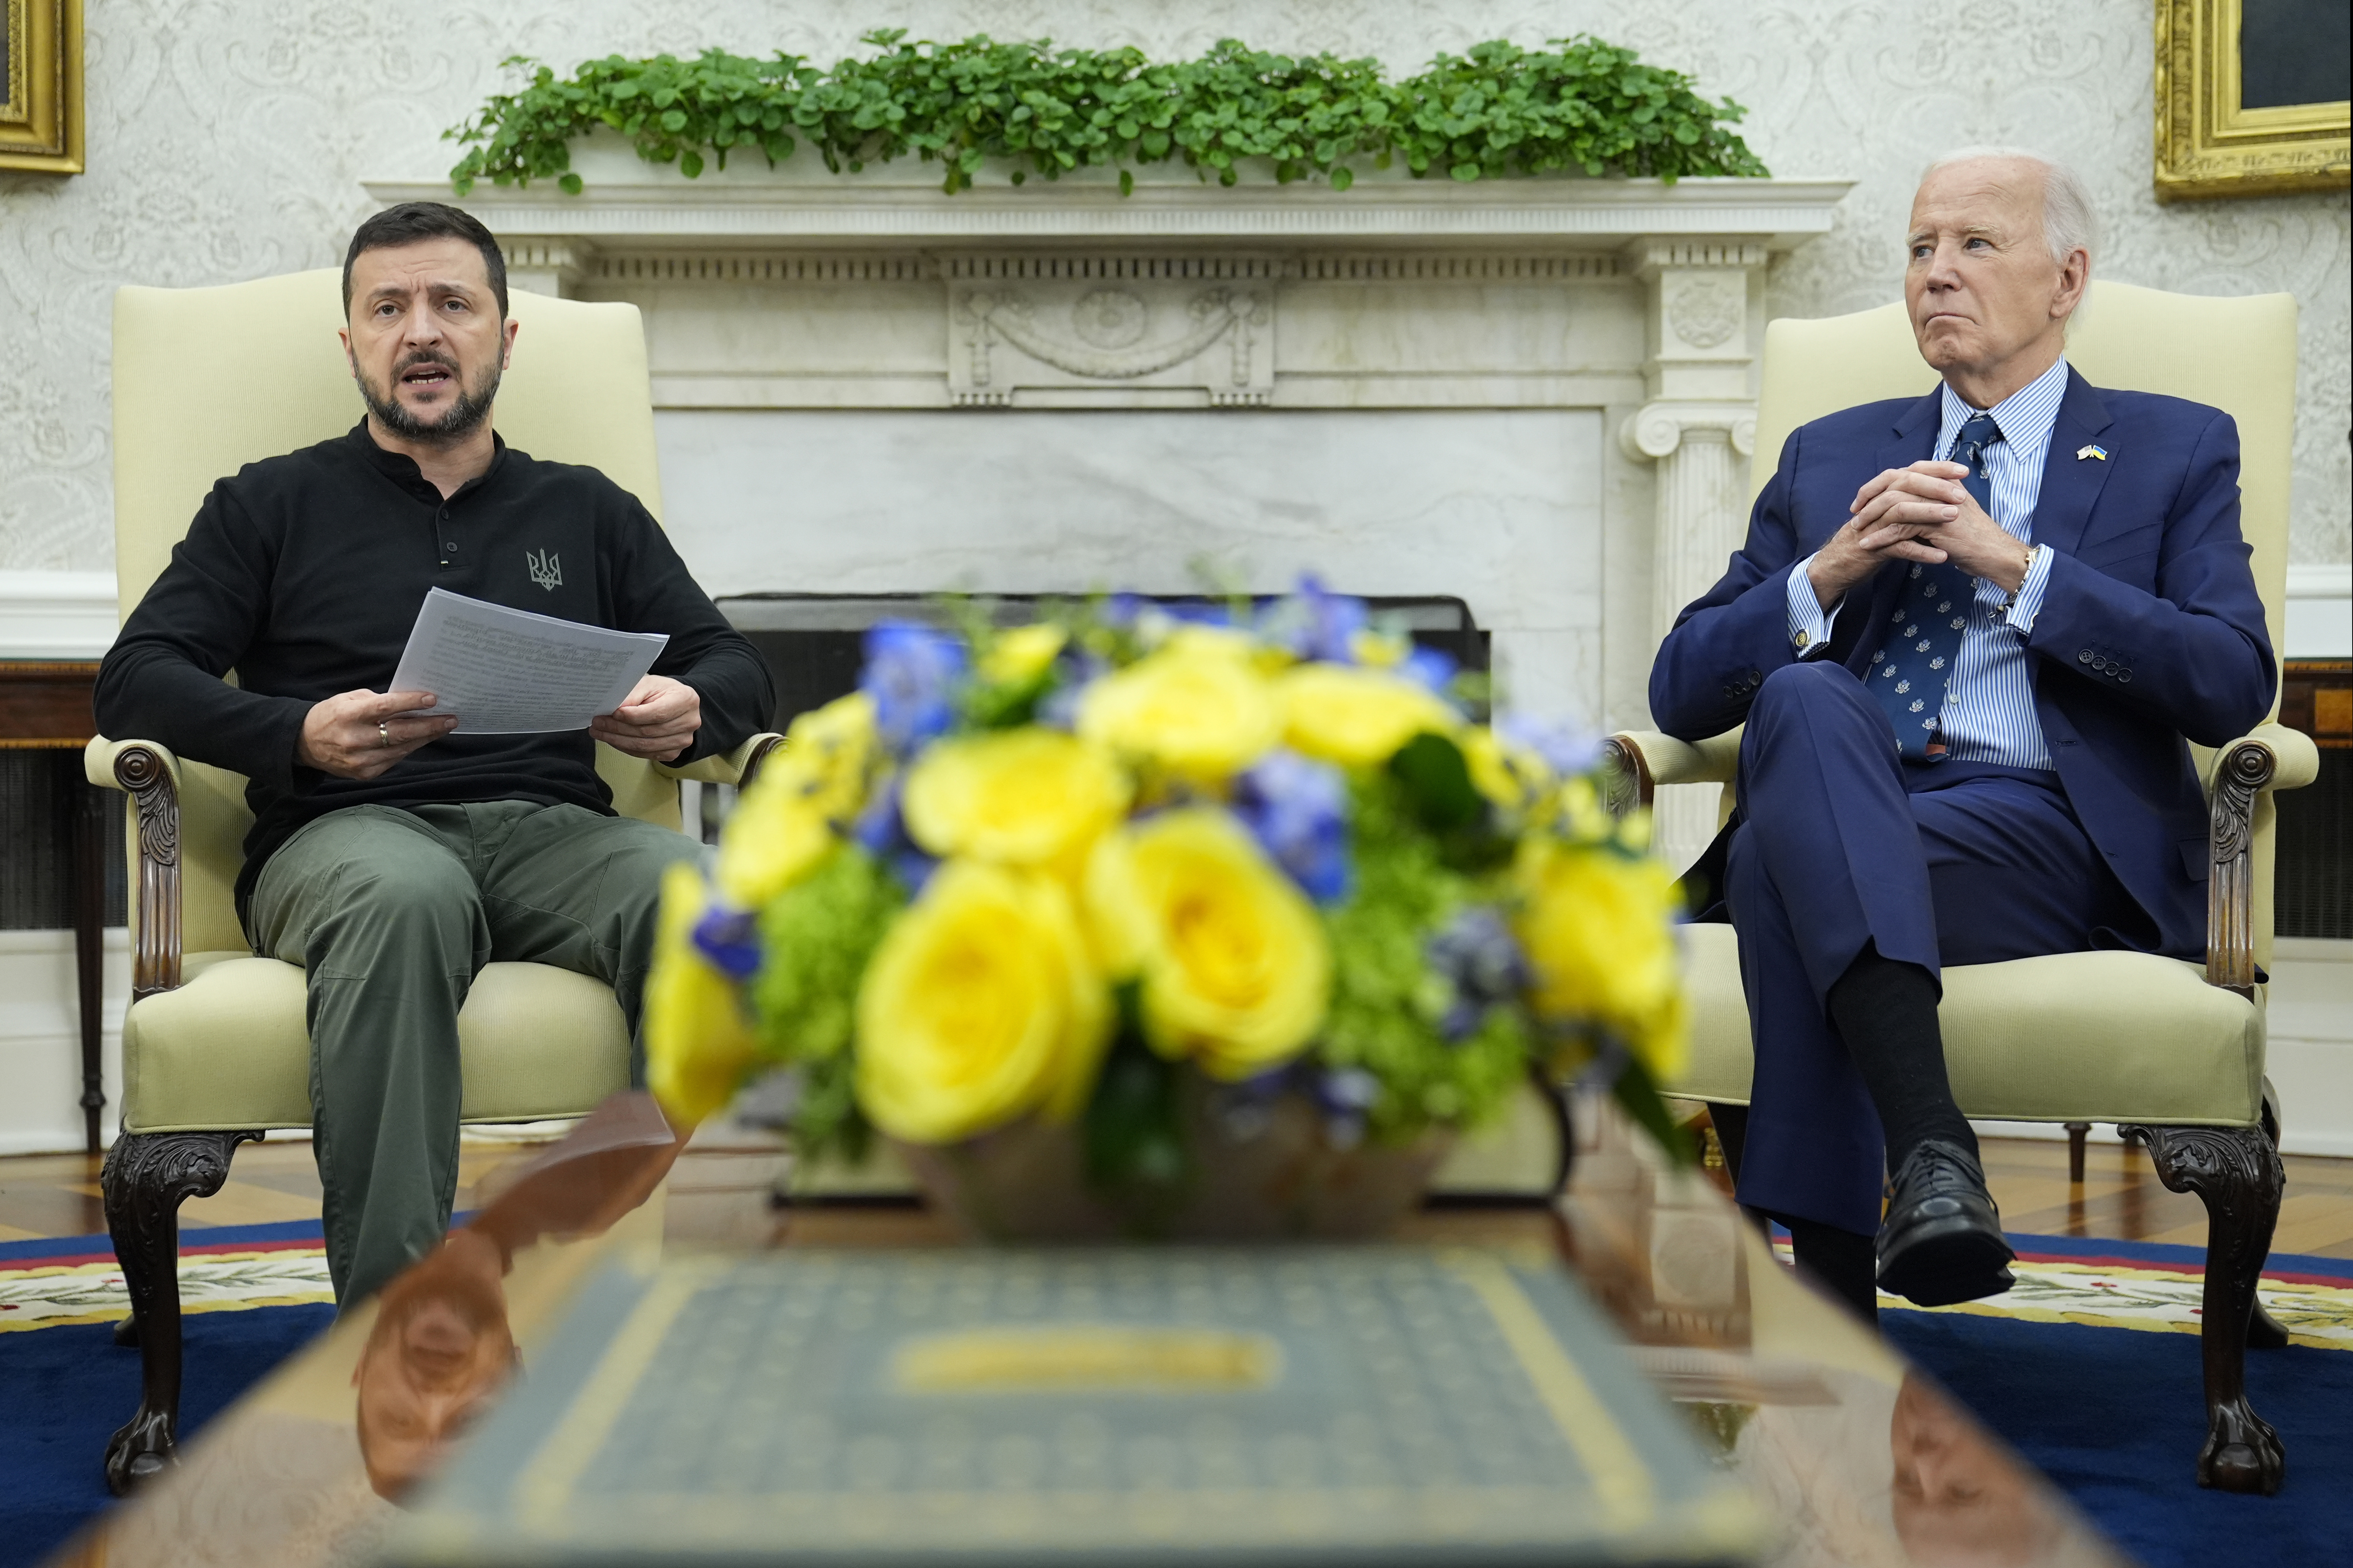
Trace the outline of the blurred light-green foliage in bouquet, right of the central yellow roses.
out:
<instances>
[{"instance_id":1,"label":"blurred light-green foliage in bouquet, right of the central yellow roses","mask_svg":"<svg viewBox=\"0 0 2353 1568\"><path fill-rule=\"evenodd\" d=\"M1452 997L1431 973L1426 945L1471 900L1473 884L1412 825L1414 806L1393 776L1358 780L1353 809L1355 891L1327 917L1332 1013L1318 1056L1381 1081L1367 1121L1384 1143L1433 1121L1478 1126L1527 1072L1527 1018L1497 1006L1466 1039L1440 1034Z\"/></svg>"}]
</instances>

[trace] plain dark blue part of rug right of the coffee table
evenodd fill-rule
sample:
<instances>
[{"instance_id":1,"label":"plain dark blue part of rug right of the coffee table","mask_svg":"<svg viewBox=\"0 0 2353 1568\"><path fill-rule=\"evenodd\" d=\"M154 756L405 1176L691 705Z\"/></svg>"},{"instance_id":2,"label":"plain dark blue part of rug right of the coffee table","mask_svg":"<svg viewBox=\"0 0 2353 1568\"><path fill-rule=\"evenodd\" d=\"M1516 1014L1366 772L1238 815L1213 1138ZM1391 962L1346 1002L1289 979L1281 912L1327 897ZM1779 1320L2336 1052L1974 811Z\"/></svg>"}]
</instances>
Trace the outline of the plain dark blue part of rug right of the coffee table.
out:
<instances>
[{"instance_id":1,"label":"plain dark blue part of rug right of the coffee table","mask_svg":"<svg viewBox=\"0 0 2353 1568\"><path fill-rule=\"evenodd\" d=\"M2146 1568L2318 1568L2353 1554L2348 1352L2247 1354L2247 1399L2287 1446L2287 1481L2275 1497L2235 1497L2195 1483L2195 1335L1887 1309L1880 1328Z\"/></svg>"}]
</instances>

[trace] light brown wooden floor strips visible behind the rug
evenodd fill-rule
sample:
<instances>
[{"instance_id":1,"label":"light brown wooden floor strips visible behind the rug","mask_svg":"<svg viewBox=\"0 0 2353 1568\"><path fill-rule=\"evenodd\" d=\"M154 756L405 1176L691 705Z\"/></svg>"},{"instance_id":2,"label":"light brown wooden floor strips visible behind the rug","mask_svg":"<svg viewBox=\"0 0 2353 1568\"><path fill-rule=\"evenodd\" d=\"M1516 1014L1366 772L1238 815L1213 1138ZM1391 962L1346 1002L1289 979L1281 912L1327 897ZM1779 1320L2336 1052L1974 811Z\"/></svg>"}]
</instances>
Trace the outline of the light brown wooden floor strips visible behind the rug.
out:
<instances>
[{"instance_id":1,"label":"light brown wooden floor strips visible behind the rug","mask_svg":"<svg viewBox=\"0 0 2353 1568\"><path fill-rule=\"evenodd\" d=\"M515 1159L518 1145L459 1145L459 1206L489 1171ZM1988 1138L1986 1178L2002 1206L2002 1225L2042 1237L2106 1237L2111 1241L2205 1244L2205 1206L2167 1192L2148 1154L2129 1145L2094 1143L2085 1180L2066 1178L2066 1145ZM318 1171L308 1140L249 1143L238 1150L219 1194L191 1199L181 1225L266 1225L318 1218ZM0 1159L0 1241L87 1237L106 1229L99 1204L96 1154L19 1154ZM2287 1157L2287 1201L2271 1241L2278 1253L2353 1258L2353 1159Z\"/></svg>"}]
</instances>

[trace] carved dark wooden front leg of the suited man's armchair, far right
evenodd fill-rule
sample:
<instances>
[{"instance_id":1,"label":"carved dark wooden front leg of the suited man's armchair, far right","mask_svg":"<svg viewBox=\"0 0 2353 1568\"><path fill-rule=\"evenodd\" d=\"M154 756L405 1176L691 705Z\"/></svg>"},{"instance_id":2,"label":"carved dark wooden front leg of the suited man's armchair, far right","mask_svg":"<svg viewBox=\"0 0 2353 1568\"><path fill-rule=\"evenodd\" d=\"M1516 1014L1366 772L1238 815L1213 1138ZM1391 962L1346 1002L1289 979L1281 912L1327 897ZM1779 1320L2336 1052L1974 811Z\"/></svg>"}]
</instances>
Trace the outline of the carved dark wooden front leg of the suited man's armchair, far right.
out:
<instances>
[{"instance_id":1,"label":"carved dark wooden front leg of the suited man's armchair, far right","mask_svg":"<svg viewBox=\"0 0 2353 1568\"><path fill-rule=\"evenodd\" d=\"M2287 1453L2280 1434L2247 1403L2247 1328L2254 1281L2280 1220L2280 1157L2252 1126L2120 1126L2174 1192L2207 1206L2205 1352L2207 1441L2198 1450L2198 1486L2226 1493L2280 1490Z\"/></svg>"}]
</instances>

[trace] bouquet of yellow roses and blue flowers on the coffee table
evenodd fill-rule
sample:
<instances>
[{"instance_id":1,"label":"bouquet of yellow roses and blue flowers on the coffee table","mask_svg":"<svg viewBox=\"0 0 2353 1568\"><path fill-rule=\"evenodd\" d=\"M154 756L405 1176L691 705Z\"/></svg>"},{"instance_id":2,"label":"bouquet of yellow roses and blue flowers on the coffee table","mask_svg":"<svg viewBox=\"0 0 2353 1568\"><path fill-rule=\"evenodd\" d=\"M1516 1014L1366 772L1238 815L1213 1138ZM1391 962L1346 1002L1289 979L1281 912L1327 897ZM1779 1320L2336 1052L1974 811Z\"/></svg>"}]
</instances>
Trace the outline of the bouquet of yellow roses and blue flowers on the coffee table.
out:
<instances>
[{"instance_id":1,"label":"bouquet of yellow roses and blue flowers on the coffee table","mask_svg":"<svg viewBox=\"0 0 2353 1568\"><path fill-rule=\"evenodd\" d=\"M1320 590L880 625L664 886L652 1088L791 1072L1000 1239L1372 1234L1529 1072L1661 1140L1666 867L1591 741Z\"/></svg>"}]
</instances>

